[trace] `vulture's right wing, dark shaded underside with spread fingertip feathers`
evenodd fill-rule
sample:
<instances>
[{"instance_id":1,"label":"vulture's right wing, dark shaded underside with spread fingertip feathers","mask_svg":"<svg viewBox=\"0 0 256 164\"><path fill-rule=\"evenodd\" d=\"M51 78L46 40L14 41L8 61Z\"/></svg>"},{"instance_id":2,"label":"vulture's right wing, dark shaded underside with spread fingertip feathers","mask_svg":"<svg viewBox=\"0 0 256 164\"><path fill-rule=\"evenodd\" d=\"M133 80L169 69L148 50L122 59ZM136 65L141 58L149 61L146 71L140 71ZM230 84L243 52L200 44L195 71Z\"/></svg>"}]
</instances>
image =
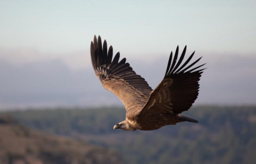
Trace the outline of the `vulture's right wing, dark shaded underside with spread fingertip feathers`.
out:
<instances>
[{"instance_id":1,"label":"vulture's right wing, dark shaded underside with spread fingertip feathers","mask_svg":"<svg viewBox=\"0 0 256 164\"><path fill-rule=\"evenodd\" d=\"M199 91L198 81L204 69L195 70L204 64L191 69L191 67L202 58L201 57L187 66L195 53L193 52L184 64L181 65L185 56L186 47L187 46L185 46L177 64L179 47L177 47L173 59L171 52L164 79L150 94L149 100L143 107L139 117L161 113L176 115L188 110L195 102Z\"/></svg>"}]
</instances>

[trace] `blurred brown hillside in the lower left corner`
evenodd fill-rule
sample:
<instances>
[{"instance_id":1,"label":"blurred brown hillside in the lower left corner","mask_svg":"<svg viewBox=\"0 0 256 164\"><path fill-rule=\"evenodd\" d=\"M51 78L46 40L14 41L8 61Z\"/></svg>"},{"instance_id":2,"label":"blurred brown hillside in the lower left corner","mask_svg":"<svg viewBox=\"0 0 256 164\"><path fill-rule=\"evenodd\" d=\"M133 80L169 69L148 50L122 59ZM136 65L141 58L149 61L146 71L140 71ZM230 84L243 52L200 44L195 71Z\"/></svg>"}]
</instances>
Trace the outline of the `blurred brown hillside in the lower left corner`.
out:
<instances>
[{"instance_id":1,"label":"blurred brown hillside in the lower left corner","mask_svg":"<svg viewBox=\"0 0 256 164\"><path fill-rule=\"evenodd\" d=\"M120 164L113 150L27 129L0 117L1 164Z\"/></svg>"}]
</instances>

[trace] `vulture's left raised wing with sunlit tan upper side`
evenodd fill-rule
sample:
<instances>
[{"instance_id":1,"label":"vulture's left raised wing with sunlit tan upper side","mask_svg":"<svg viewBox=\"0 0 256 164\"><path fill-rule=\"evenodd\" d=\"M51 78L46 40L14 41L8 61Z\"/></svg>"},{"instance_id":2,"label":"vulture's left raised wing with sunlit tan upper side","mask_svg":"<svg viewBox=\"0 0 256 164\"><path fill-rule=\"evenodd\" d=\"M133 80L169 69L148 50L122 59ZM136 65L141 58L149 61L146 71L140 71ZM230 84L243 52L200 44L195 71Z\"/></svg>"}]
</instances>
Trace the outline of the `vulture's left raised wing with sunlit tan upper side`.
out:
<instances>
[{"instance_id":1,"label":"vulture's left raised wing with sunlit tan upper side","mask_svg":"<svg viewBox=\"0 0 256 164\"><path fill-rule=\"evenodd\" d=\"M127 113L129 111L136 114L147 102L152 89L144 78L132 70L125 58L119 61L119 52L113 60L112 56L112 46L107 51L106 40L102 47L100 36L98 40L94 36L94 41L91 42L91 60L95 74L102 86L122 101Z\"/></svg>"}]
</instances>

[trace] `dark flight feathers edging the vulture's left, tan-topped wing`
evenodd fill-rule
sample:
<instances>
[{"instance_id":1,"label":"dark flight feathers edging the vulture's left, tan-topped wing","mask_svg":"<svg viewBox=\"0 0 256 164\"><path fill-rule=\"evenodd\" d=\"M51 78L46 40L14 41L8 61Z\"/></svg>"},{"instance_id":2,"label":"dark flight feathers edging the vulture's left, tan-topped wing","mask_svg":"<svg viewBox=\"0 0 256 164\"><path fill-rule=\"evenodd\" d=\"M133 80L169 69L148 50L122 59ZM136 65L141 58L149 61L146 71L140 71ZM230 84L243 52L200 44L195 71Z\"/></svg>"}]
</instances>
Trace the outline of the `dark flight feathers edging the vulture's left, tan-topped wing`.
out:
<instances>
[{"instance_id":1,"label":"dark flight feathers edging the vulture's left, tan-topped wing","mask_svg":"<svg viewBox=\"0 0 256 164\"><path fill-rule=\"evenodd\" d=\"M108 52L108 53L107 53ZM152 91L151 87L140 75L137 75L130 67L129 63L126 63L126 58L119 61L120 53L118 52L112 61L113 48L109 47L107 51L107 42L104 40L103 48L101 44L101 37L94 36L94 42L91 43L91 60L92 66L96 75L101 82L111 79L123 79L125 82L134 87L145 96L149 97ZM127 86L129 87L129 86ZM125 89L125 88L124 88Z\"/></svg>"}]
</instances>

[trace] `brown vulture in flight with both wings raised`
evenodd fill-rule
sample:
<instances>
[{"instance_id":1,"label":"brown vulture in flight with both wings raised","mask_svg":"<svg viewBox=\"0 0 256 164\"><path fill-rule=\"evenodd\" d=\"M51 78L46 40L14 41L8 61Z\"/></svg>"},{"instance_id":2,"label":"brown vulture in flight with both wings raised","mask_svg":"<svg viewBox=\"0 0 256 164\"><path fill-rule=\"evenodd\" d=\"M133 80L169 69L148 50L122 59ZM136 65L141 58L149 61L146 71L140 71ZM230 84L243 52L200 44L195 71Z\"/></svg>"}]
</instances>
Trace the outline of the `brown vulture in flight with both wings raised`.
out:
<instances>
[{"instance_id":1,"label":"brown vulture in flight with both wings raised","mask_svg":"<svg viewBox=\"0 0 256 164\"><path fill-rule=\"evenodd\" d=\"M102 45L101 37L97 39L94 36L91 62L95 74L102 86L115 94L126 109L125 120L114 125L114 130L155 130L178 122L198 122L181 113L195 102L199 91L198 82L205 69L200 67L206 63L195 67L200 57L189 64L193 52L182 64L186 46L179 57L178 52L179 46L174 54L170 54L163 80L152 90L147 81L133 71L126 58L119 61L119 52L113 58L112 46L107 49L106 40Z\"/></svg>"}]
</instances>

